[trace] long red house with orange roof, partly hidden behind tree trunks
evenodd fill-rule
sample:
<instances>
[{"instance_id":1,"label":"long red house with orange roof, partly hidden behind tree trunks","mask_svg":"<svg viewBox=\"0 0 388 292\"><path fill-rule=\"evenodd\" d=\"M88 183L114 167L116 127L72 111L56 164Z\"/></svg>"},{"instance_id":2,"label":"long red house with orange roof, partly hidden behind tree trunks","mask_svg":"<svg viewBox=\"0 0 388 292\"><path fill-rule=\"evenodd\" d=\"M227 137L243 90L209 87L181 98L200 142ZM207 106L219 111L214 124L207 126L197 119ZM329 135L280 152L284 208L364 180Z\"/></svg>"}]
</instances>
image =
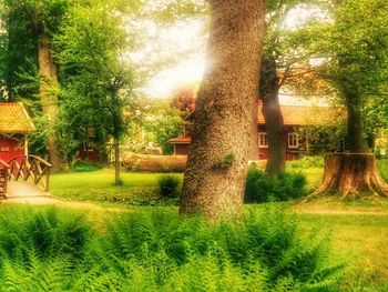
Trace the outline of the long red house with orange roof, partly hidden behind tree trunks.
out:
<instances>
[{"instance_id":1,"label":"long red house with orange roof, partly hidden behind tree trunks","mask_svg":"<svg viewBox=\"0 0 388 292\"><path fill-rule=\"evenodd\" d=\"M284 143L286 145L286 160L297 159L308 148L308 139L300 139L297 129L306 125L334 125L343 119L343 110L333 107L312 105L282 105L280 107L286 131ZM268 158L268 140L265 120L262 112L262 103L258 104L258 157ZM186 155L191 143L191 129L186 129L184 135L170 140L174 145L175 155Z\"/></svg>"}]
</instances>

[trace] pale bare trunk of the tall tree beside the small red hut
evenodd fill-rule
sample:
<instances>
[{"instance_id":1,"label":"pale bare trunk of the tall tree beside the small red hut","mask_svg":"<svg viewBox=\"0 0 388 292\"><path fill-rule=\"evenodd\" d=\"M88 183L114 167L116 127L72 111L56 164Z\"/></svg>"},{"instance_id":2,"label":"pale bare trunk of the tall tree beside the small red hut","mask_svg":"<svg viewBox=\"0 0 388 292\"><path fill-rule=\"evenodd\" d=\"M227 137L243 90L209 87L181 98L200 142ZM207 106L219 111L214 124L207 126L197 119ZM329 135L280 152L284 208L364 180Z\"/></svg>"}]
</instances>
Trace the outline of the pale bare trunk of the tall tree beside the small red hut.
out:
<instances>
[{"instance_id":1,"label":"pale bare trunk of the tall tree beside the small red hut","mask_svg":"<svg viewBox=\"0 0 388 292\"><path fill-rule=\"evenodd\" d=\"M57 68L50 50L49 37L44 30L39 33L38 57L40 73L39 97L43 115L47 118L49 123L49 159L53 165L53 170L62 170L67 168L67 163L58 150L58 142L54 133L54 127L58 119L59 84L57 79Z\"/></svg>"}]
</instances>

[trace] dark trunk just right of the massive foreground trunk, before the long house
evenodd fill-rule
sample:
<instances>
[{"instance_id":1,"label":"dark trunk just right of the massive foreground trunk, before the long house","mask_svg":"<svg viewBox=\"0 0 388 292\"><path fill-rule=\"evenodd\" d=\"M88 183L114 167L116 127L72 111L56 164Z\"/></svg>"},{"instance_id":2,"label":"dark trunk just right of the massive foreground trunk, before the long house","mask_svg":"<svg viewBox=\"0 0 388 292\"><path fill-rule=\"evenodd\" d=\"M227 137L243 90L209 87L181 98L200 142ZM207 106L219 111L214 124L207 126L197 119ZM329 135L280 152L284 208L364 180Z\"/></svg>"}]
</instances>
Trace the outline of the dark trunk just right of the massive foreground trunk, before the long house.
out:
<instances>
[{"instance_id":1,"label":"dark trunk just right of the massive foreground trunk, before the long house","mask_svg":"<svg viewBox=\"0 0 388 292\"><path fill-rule=\"evenodd\" d=\"M268 159L265 171L270 175L284 173L286 148L284 120L279 103L279 78L276 61L272 56L263 57L261 97L263 115L268 139Z\"/></svg>"}]
</instances>

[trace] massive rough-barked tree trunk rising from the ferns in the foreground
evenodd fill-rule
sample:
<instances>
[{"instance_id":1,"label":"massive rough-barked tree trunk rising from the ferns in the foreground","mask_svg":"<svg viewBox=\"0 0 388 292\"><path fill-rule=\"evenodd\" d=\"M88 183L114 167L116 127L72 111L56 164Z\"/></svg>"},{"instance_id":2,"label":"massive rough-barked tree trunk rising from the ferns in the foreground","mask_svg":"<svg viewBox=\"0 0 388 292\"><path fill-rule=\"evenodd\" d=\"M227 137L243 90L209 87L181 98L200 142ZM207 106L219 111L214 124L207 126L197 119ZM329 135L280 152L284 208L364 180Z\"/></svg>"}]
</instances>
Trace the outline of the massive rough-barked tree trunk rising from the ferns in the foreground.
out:
<instances>
[{"instance_id":1,"label":"massive rough-barked tree trunk rising from the ferns in the foreground","mask_svg":"<svg viewBox=\"0 0 388 292\"><path fill-rule=\"evenodd\" d=\"M208 71L194 113L181 213L241 213L255 127L264 0L213 0Z\"/></svg>"}]
</instances>

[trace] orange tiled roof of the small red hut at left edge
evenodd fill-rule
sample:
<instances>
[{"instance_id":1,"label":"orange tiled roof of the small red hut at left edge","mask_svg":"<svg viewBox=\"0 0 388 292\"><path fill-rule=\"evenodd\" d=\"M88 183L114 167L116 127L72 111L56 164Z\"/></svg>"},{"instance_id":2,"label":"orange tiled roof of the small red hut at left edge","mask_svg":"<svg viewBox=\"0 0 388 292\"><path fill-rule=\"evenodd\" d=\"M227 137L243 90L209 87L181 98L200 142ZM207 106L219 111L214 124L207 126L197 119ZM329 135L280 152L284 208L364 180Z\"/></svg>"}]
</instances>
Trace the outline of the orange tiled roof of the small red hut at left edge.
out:
<instances>
[{"instance_id":1,"label":"orange tiled roof of the small red hut at left edge","mask_svg":"<svg viewBox=\"0 0 388 292\"><path fill-rule=\"evenodd\" d=\"M35 127L22 103L0 103L0 133L30 133L34 130Z\"/></svg>"}]
</instances>

